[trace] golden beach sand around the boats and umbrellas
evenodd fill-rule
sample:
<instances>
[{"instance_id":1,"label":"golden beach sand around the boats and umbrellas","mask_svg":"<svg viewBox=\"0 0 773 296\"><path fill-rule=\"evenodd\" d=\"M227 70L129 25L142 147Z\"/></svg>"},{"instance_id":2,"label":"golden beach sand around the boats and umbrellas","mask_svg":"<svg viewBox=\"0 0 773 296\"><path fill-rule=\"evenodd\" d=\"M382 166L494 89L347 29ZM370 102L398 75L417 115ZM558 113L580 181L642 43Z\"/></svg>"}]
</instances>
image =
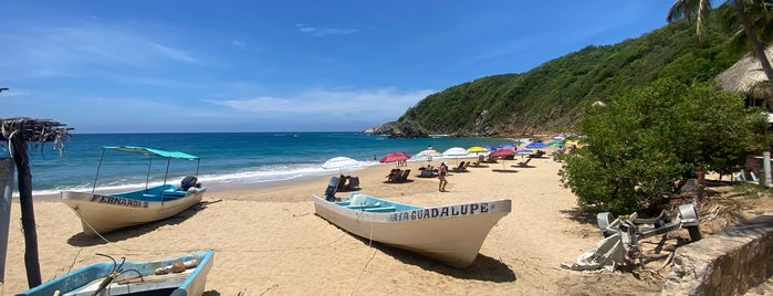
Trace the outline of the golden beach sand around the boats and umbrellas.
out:
<instances>
[{"instance_id":1,"label":"golden beach sand around the boats and umbrellas","mask_svg":"<svg viewBox=\"0 0 773 296\"><path fill-rule=\"evenodd\" d=\"M409 162L411 181L406 183L384 182L395 165L348 172L359 177L362 192L411 204L511 199L512 213L491 230L477 261L463 269L372 244L315 215L309 197L324 192L331 177L325 176L274 188L211 188L200 207L108 233L109 242L83 235L80 221L63 203L35 201L42 276L48 281L103 261L95 253L144 261L210 249L216 251L215 266L205 295L654 295L660 290L657 274L561 268L562 262L573 263L602 239L595 213L579 211L576 197L561 186L561 163L539 158L520 168L518 161L452 172L448 192L438 192L437 179L416 177L425 162ZM338 193L343 194L347 193ZM669 249L665 250L648 254L647 263L657 266L668 255ZM2 290L11 295L24 289L24 240L14 201Z\"/></svg>"}]
</instances>

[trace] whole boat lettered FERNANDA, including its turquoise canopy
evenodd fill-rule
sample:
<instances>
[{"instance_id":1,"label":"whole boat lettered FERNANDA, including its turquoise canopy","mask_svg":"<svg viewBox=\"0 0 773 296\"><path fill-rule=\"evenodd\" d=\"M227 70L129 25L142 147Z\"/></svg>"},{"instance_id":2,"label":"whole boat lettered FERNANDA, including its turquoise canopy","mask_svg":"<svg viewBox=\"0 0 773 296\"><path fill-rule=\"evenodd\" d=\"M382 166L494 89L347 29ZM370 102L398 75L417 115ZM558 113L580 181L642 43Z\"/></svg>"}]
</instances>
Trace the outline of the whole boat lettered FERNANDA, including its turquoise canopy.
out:
<instances>
[{"instance_id":1,"label":"whole boat lettered FERNANDA, including its turquoise canopy","mask_svg":"<svg viewBox=\"0 0 773 296\"><path fill-rule=\"evenodd\" d=\"M164 158L167 160L167 171L171 159L200 160L196 156L184 152L135 146L105 146L103 157L106 150L139 154L149 156L150 159ZM198 168L196 171L198 173ZM98 169L96 180L98 180ZM195 176L189 176L176 186L167 183L165 177L164 184L155 187L146 184L143 189L121 193L102 194L95 193L94 190L92 192L63 191L61 200L81 219L83 232L92 235L163 220L185 211L200 202L207 191L207 188L198 184L196 180ZM96 181L94 188L96 188Z\"/></svg>"}]
</instances>

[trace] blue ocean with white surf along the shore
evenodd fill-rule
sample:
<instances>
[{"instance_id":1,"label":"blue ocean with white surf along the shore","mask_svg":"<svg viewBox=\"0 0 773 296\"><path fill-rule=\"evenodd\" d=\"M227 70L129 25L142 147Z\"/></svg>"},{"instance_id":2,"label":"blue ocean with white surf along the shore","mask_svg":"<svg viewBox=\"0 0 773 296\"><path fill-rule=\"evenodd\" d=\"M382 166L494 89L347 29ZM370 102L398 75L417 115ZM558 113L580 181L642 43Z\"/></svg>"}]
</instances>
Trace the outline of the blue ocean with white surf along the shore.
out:
<instances>
[{"instance_id":1,"label":"blue ocean with white surf along the shore","mask_svg":"<svg viewBox=\"0 0 773 296\"><path fill-rule=\"evenodd\" d=\"M108 150L102 166L103 146L140 146L182 151L201 158L199 181L210 190L267 188L313 177L348 173L380 165L388 152L416 155L432 146L440 152L451 147L499 146L515 142L505 138L422 138L389 139L361 133L185 133L185 134L75 134L64 150L52 144L29 144L32 193L36 197L59 195L60 191L123 191L167 182L178 184L187 175L195 175L197 161L171 160ZM8 157L2 142L0 157ZM325 169L326 160L348 157L357 165L344 169ZM409 161L421 161L412 159ZM95 180L100 170L100 178ZM148 179L148 171L149 179ZM96 181L96 187L94 186ZM18 195L18 188L14 188Z\"/></svg>"}]
</instances>

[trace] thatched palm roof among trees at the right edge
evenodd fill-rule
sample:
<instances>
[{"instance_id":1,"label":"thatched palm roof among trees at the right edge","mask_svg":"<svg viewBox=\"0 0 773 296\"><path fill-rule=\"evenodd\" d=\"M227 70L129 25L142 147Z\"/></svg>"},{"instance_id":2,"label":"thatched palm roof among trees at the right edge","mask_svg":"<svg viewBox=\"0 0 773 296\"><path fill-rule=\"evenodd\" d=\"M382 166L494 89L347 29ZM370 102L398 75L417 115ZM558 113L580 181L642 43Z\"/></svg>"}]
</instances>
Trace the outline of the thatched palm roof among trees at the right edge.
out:
<instances>
[{"instance_id":1,"label":"thatched palm roof among trees at the right edge","mask_svg":"<svg viewBox=\"0 0 773 296\"><path fill-rule=\"evenodd\" d=\"M773 45L765 50L767 61L773 57ZM760 61L746 54L730 68L717 76L717 82L728 92L742 93L756 99L773 99L773 87L762 71Z\"/></svg>"}]
</instances>

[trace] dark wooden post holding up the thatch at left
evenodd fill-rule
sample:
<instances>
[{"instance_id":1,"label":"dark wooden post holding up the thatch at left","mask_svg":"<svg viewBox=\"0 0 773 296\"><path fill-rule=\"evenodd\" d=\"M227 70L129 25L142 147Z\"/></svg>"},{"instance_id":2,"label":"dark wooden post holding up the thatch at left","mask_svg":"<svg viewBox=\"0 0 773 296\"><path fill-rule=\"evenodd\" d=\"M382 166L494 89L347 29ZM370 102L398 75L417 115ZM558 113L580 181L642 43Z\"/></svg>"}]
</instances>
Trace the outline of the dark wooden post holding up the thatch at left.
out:
<instances>
[{"instance_id":1,"label":"dark wooden post holding up the thatch at left","mask_svg":"<svg viewBox=\"0 0 773 296\"><path fill-rule=\"evenodd\" d=\"M32 202L32 173L27 155L27 139L14 137L13 161L19 177L19 202L21 205L21 226L24 231L24 266L27 267L27 284L30 288L40 286L40 262L38 258L38 230L35 229L35 211Z\"/></svg>"}]
</instances>

